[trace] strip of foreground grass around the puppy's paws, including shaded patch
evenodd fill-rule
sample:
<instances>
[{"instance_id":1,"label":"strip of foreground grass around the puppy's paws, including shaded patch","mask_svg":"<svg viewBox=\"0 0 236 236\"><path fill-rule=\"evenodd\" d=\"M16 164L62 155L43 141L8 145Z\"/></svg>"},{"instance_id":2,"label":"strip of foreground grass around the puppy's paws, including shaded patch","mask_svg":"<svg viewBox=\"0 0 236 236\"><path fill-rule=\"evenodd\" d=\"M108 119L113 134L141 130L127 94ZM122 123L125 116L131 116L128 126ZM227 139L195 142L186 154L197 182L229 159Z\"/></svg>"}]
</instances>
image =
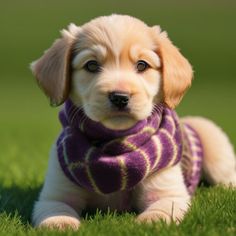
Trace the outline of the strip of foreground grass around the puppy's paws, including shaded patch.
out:
<instances>
[{"instance_id":1,"label":"strip of foreground grass around the puppy's paws, including shaded patch","mask_svg":"<svg viewBox=\"0 0 236 236\"><path fill-rule=\"evenodd\" d=\"M58 235L57 231L33 229L28 218L36 188L2 189L5 211L0 214L0 232L3 235ZM191 210L180 225L164 222L151 225L138 225L135 215L114 212L85 215L78 232L61 233L65 235L235 235L236 233L236 194L235 190L222 187L201 187L193 199ZM30 197L28 197L30 195ZM21 204L20 204L21 203ZM1 209L1 208L0 208Z\"/></svg>"}]
</instances>

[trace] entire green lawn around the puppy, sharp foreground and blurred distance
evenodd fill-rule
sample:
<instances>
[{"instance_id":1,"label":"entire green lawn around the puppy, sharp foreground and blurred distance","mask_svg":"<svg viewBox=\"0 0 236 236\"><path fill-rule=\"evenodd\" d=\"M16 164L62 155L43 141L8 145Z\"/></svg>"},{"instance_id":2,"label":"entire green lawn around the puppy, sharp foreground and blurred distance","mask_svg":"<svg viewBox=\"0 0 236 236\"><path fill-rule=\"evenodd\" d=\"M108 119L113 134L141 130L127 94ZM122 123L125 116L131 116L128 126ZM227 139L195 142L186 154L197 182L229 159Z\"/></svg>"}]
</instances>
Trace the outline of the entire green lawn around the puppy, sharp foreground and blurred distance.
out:
<instances>
[{"instance_id":1,"label":"entire green lawn around the puppy, sharp foreground and blurred distance","mask_svg":"<svg viewBox=\"0 0 236 236\"><path fill-rule=\"evenodd\" d=\"M48 152L60 131L28 64L70 22L81 24L112 12L159 23L191 61L192 88L178 113L217 122L236 145L236 4L198 1L12 1L0 7L0 235L58 235L30 224L47 168ZM56 3L56 5L55 5ZM135 4L134 4L135 3ZM137 225L135 215L97 212L84 217L79 232L67 235L236 235L236 190L202 185L180 225Z\"/></svg>"}]
</instances>

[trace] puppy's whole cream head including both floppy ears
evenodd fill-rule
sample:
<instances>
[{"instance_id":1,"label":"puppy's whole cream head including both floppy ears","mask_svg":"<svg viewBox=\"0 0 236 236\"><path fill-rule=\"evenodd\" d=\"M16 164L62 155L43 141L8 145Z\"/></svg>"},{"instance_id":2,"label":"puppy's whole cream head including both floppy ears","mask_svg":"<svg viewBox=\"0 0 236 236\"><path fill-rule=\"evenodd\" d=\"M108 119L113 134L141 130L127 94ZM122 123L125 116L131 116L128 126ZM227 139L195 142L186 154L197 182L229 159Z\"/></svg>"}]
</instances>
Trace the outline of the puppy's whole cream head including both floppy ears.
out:
<instances>
[{"instance_id":1,"label":"puppy's whole cream head including both floppy ears","mask_svg":"<svg viewBox=\"0 0 236 236\"><path fill-rule=\"evenodd\" d=\"M121 15L70 25L32 70L52 104L70 97L113 129L145 119L158 103L175 108L192 79L165 32Z\"/></svg>"}]
</instances>

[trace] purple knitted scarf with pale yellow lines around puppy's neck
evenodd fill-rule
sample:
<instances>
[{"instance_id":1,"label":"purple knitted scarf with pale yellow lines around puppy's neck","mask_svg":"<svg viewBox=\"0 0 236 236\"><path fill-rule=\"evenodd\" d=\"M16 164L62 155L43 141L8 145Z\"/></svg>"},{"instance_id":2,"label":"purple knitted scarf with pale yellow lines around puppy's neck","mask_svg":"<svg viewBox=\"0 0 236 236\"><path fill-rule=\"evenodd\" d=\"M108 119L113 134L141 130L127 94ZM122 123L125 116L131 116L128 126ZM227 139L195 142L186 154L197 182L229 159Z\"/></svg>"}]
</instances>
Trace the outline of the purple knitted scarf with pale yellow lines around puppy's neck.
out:
<instances>
[{"instance_id":1,"label":"purple knitted scarf with pale yellow lines around puppy's neck","mask_svg":"<svg viewBox=\"0 0 236 236\"><path fill-rule=\"evenodd\" d=\"M63 131L57 152L62 170L75 184L99 194L130 190L151 173L176 165L184 153L176 113L164 105L126 130L104 127L70 100L59 119ZM198 179L199 171L185 177L190 192Z\"/></svg>"}]
</instances>

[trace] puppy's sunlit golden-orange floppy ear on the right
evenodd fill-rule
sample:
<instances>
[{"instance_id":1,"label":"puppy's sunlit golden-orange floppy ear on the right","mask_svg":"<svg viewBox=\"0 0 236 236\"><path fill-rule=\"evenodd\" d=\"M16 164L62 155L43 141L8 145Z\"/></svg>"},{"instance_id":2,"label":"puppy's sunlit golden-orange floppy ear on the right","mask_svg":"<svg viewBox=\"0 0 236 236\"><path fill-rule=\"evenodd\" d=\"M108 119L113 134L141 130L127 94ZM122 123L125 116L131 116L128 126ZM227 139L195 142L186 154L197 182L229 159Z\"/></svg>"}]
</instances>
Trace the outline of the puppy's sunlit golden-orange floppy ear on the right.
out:
<instances>
[{"instance_id":1,"label":"puppy's sunlit golden-orange floppy ear on the right","mask_svg":"<svg viewBox=\"0 0 236 236\"><path fill-rule=\"evenodd\" d=\"M188 60L169 40L166 32L154 26L157 51L162 61L164 102L175 108L191 85L193 70Z\"/></svg>"}]
</instances>

